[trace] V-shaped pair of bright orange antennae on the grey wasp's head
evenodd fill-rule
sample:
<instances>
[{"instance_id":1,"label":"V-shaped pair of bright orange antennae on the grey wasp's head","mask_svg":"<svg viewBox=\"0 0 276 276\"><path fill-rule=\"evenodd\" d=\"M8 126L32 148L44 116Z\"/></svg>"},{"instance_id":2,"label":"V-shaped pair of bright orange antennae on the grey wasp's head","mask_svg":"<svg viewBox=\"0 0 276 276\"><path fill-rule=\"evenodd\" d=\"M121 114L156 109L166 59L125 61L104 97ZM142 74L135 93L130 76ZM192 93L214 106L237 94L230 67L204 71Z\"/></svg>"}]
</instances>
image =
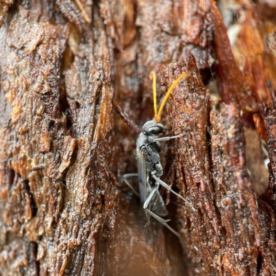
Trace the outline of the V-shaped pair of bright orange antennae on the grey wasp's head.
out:
<instances>
[{"instance_id":1,"label":"V-shaped pair of bright orange antennae on the grey wasp's head","mask_svg":"<svg viewBox=\"0 0 276 276\"><path fill-rule=\"evenodd\" d=\"M179 81L181 81L181 79L183 79L184 77L188 77L188 74L184 73L184 74L180 75L174 81L174 83L172 83L172 85L170 86L170 88L166 92L166 95L165 95L163 101L161 102L161 106L158 110L158 113L157 113L157 104L156 104L156 74L155 74L155 72L153 72L153 71L150 72L150 77L152 78L153 106L155 108L155 121L157 121L157 123L159 123L159 121L161 119L161 111L163 110L163 108L165 106L165 103L166 103L168 97L170 96L170 93L172 92L173 88L175 88L175 86L177 86L177 83L179 83Z\"/></svg>"}]
</instances>

